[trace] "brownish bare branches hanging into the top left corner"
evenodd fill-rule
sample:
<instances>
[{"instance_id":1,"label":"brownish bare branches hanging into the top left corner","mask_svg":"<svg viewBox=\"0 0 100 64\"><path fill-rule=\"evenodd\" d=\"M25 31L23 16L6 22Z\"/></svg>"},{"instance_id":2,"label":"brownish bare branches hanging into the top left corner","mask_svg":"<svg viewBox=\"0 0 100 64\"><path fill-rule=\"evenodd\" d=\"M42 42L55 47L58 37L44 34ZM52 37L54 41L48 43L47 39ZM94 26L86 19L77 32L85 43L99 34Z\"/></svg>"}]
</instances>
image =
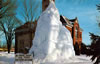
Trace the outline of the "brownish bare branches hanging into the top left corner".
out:
<instances>
[{"instance_id":1,"label":"brownish bare branches hanging into the top left corner","mask_svg":"<svg viewBox=\"0 0 100 64\"><path fill-rule=\"evenodd\" d=\"M16 0L0 0L0 18L15 15Z\"/></svg>"}]
</instances>

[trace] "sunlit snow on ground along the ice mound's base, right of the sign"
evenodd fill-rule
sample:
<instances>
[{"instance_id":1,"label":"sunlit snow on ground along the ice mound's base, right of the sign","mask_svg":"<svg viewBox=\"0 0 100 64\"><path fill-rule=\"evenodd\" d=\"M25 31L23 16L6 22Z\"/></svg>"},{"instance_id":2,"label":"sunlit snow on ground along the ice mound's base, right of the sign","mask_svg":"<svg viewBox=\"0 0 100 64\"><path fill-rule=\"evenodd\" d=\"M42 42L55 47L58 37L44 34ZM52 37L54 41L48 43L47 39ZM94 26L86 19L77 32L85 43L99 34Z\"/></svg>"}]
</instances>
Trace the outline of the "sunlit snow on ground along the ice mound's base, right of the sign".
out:
<instances>
[{"instance_id":1,"label":"sunlit snow on ground along the ice mound's base, right of the sign","mask_svg":"<svg viewBox=\"0 0 100 64\"><path fill-rule=\"evenodd\" d=\"M73 58L70 58L70 60L64 60L62 62L45 62L42 64L93 64L90 60L91 57L87 57L86 55L80 55L80 56L75 56Z\"/></svg>"}]
</instances>

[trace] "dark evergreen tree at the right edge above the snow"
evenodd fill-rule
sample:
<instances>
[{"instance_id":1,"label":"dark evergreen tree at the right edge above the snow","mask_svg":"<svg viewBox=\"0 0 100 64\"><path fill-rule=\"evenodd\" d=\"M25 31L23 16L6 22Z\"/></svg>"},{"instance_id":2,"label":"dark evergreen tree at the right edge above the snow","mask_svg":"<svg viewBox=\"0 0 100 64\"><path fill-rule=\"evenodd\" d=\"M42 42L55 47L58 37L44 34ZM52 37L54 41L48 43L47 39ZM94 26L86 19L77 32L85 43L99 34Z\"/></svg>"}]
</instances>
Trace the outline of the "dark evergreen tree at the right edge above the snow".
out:
<instances>
[{"instance_id":1,"label":"dark evergreen tree at the right edge above the snow","mask_svg":"<svg viewBox=\"0 0 100 64\"><path fill-rule=\"evenodd\" d=\"M94 61L96 58L96 62L94 64L100 63L100 36L94 35L90 33L91 36L91 54L93 55L91 60Z\"/></svg>"}]
</instances>

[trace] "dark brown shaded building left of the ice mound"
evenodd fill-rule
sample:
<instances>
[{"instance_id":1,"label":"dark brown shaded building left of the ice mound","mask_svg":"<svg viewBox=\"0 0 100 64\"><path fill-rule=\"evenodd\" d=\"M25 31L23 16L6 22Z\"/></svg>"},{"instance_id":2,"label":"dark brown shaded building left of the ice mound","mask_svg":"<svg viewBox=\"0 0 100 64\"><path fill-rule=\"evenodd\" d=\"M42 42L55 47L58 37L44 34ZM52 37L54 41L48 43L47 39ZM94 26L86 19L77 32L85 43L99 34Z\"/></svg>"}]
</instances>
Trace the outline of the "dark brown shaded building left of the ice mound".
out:
<instances>
[{"instance_id":1,"label":"dark brown shaded building left of the ice mound","mask_svg":"<svg viewBox=\"0 0 100 64\"><path fill-rule=\"evenodd\" d=\"M15 29L15 53L28 53L32 46L37 22L26 22Z\"/></svg>"}]
</instances>

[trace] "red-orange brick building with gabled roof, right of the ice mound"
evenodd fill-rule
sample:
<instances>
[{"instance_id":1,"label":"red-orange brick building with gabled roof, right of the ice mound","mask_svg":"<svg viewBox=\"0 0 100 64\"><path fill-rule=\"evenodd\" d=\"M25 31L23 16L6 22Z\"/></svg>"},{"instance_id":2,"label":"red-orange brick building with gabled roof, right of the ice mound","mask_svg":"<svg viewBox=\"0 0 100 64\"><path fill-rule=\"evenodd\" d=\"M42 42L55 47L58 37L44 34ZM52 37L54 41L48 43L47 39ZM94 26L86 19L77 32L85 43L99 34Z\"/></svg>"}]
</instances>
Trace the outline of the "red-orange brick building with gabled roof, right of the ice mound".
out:
<instances>
[{"instance_id":1,"label":"red-orange brick building with gabled roof, right of the ice mound","mask_svg":"<svg viewBox=\"0 0 100 64\"><path fill-rule=\"evenodd\" d=\"M70 31L72 35L74 49L75 51L78 51L76 52L76 54L80 54L82 43L82 29L80 28L77 17L75 19L69 20L61 15L60 21Z\"/></svg>"}]
</instances>

